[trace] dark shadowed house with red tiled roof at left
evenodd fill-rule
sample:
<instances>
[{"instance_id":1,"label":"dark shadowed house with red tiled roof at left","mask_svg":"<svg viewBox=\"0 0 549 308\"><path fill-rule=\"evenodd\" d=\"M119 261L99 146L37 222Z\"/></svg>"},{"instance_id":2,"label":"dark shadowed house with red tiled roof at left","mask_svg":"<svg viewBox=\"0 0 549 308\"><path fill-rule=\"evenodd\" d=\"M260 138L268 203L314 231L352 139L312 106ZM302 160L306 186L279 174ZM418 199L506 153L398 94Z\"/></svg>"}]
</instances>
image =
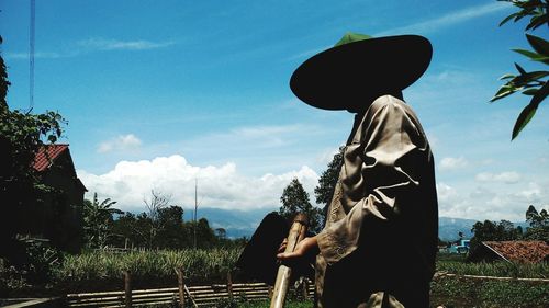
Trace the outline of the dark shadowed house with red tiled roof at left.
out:
<instances>
[{"instance_id":1,"label":"dark shadowed house with red tiled roof at left","mask_svg":"<svg viewBox=\"0 0 549 308\"><path fill-rule=\"evenodd\" d=\"M78 251L82 243L82 206L86 186L78 179L69 145L43 146L32 164L51 193L40 195L25 215L26 232L53 246Z\"/></svg>"}]
</instances>

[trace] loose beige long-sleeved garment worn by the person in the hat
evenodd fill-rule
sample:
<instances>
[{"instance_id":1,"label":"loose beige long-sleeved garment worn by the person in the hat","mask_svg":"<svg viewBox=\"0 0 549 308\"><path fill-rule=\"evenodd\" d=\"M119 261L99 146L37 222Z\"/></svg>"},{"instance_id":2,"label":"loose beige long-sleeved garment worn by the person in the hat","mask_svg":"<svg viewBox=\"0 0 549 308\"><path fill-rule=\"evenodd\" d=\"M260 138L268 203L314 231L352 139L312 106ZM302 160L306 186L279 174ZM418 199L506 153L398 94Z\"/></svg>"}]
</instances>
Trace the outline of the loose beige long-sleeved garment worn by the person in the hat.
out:
<instances>
[{"instance_id":1,"label":"loose beige long-sleeved garment worn by the person in the hat","mask_svg":"<svg viewBox=\"0 0 549 308\"><path fill-rule=\"evenodd\" d=\"M428 140L413 110L391 95L357 121L317 235L316 305L428 307L438 242Z\"/></svg>"}]
</instances>

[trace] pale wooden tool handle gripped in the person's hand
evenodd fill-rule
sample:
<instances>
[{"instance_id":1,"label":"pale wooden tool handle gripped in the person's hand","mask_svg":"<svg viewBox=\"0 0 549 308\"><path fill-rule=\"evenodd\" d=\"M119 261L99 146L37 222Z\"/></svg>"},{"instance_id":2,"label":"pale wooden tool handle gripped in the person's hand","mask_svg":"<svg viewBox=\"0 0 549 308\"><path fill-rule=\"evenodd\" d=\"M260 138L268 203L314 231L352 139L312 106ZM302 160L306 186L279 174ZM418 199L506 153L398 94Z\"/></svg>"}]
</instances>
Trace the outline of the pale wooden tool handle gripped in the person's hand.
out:
<instances>
[{"instance_id":1,"label":"pale wooden tool handle gripped in the person's hand","mask_svg":"<svg viewBox=\"0 0 549 308\"><path fill-rule=\"evenodd\" d=\"M288 233L288 244L284 252L293 252L295 250L295 246L305 237L307 225L307 217L305 214L300 213L295 215ZM292 269L289 266L280 265L278 267L277 281L274 283L270 308L284 307L285 295L290 285L291 275Z\"/></svg>"}]
</instances>

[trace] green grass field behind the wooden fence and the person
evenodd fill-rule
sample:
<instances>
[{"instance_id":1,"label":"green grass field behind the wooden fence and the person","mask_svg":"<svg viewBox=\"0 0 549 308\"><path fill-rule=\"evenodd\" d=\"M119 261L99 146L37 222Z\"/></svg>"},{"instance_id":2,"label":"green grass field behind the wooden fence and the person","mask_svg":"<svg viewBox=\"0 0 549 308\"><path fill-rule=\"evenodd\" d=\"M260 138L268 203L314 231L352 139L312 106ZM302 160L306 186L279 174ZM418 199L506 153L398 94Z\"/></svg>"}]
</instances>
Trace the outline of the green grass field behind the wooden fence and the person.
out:
<instances>
[{"instance_id":1,"label":"green grass field behind the wooden fence and the person","mask_svg":"<svg viewBox=\"0 0 549 308\"><path fill-rule=\"evenodd\" d=\"M80 255L68 255L59 266L53 269L49 287L54 293L81 293L114 290L123 286L123 272L132 273L135 289L177 286L175 269L182 267L190 285L226 282L227 272L233 271L240 249L231 250L181 250L134 251L112 253L90 251ZM467 263L460 255L440 255L438 273L432 283L433 307L547 307L548 282L518 280L475 280L463 275L548 278L549 266L541 264ZM237 282L238 277L235 277ZM235 306L226 306L235 307ZM268 303L240 303L237 307L268 307ZM312 307L311 301L291 301L288 307Z\"/></svg>"}]
</instances>

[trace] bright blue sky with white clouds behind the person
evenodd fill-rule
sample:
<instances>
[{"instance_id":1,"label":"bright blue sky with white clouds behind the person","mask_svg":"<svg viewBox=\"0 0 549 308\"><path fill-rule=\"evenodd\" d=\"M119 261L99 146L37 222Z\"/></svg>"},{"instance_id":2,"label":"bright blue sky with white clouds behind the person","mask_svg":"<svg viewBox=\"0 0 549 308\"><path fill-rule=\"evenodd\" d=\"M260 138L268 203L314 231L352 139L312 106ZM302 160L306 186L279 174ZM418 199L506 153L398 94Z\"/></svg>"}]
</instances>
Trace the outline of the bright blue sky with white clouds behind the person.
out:
<instances>
[{"instance_id":1,"label":"bright blue sky with white clouds behind the person","mask_svg":"<svg viewBox=\"0 0 549 308\"><path fill-rule=\"evenodd\" d=\"M498 26L508 3L335 2L38 0L34 112L68 119L80 179L123 209L144 210L150 190L191 208L195 179L200 206L273 209L293 176L314 201L352 124L301 103L293 70L347 31L419 34L434 56L404 98L433 146L440 215L515 221L548 207L547 106L511 141L527 99L489 103L514 61L536 68L511 52L527 47L525 24ZM30 0L0 10L8 103L26 110Z\"/></svg>"}]
</instances>

